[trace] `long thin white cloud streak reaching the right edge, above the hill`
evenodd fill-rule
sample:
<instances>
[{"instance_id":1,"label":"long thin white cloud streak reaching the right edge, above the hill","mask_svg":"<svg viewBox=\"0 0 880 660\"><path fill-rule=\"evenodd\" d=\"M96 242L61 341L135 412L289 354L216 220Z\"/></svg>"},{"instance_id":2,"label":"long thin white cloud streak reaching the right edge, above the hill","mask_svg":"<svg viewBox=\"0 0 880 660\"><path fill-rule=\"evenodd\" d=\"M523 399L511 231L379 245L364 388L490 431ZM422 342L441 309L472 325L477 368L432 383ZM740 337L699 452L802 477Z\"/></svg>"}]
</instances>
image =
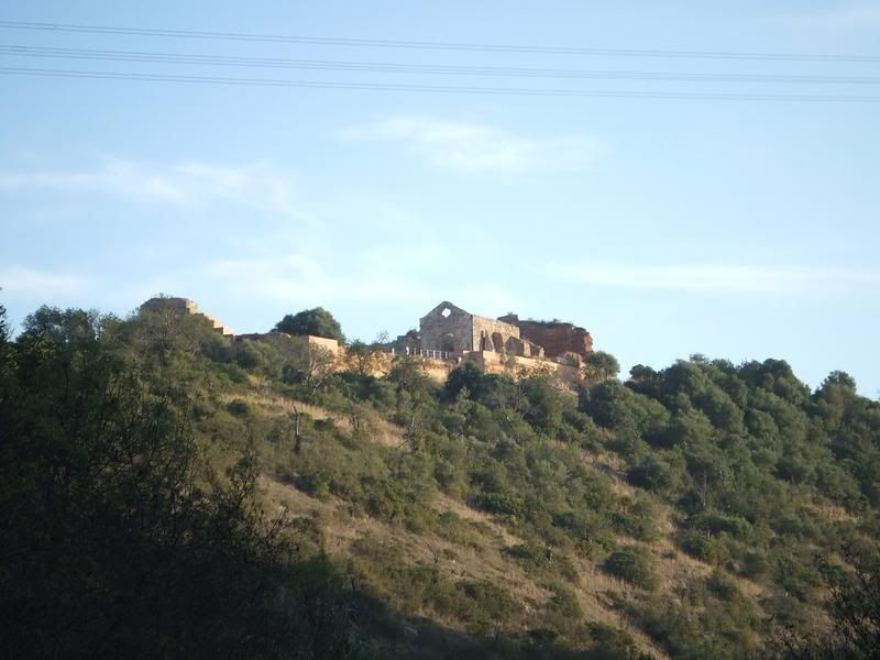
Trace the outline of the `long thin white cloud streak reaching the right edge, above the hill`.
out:
<instances>
[{"instance_id":1,"label":"long thin white cloud streak reaching the right edge, above the hill","mask_svg":"<svg viewBox=\"0 0 880 660\"><path fill-rule=\"evenodd\" d=\"M696 293L835 293L880 285L880 271L756 265L551 265L558 282L628 289Z\"/></svg>"}]
</instances>

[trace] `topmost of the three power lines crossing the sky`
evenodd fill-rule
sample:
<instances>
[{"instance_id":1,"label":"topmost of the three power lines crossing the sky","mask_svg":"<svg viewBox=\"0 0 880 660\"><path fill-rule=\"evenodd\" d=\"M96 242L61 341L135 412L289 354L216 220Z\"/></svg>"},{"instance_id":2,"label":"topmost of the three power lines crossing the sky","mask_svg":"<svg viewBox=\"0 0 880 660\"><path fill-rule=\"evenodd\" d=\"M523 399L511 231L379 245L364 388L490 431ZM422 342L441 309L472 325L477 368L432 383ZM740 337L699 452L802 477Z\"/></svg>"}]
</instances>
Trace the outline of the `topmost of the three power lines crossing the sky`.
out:
<instances>
[{"instance_id":1,"label":"topmost of the three power lines crossing the sky","mask_svg":"<svg viewBox=\"0 0 880 660\"><path fill-rule=\"evenodd\" d=\"M81 25L73 23L46 23L34 21L0 21L0 28L48 32L87 34L119 34L128 36L161 36L172 38L198 38L218 41L246 41L260 43L312 44L355 46L371 48L410 48L429 51L474 51L488 53L531 53L549 55L594 55L608 57L668 57L689 59L756 59L782 62L848 62L877 63L880 55L809 54L809 53L759 53L725 51L663 51L649 48L592 48L569 46L531 46L515 44L457 43L435 41L348 38L328 36L301 36L256 34L248 32L215 32L204 30L163 30L125 28L117 25Z\"/></svg>"}]
</instances>

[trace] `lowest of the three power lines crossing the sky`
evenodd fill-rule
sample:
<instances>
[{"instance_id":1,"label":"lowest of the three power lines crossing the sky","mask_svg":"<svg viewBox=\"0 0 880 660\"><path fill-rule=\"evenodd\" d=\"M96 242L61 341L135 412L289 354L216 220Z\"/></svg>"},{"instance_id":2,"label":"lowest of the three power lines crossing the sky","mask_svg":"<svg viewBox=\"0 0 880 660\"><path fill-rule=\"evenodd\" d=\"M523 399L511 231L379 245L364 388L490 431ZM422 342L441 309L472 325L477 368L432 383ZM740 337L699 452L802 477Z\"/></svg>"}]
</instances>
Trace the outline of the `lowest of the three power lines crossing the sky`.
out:
<instances>
[{"instance_id":1,"label":"lowest of the three power lines crossing the sky","mask_svg":"<svg viewBox=\"0 0 880 660\"><path fill-rule=\"evenodd\" d=\"M582 89L530 89L515 87L460 87L439 85L397 85L377 82L331 82L322 80L287 80L271 78L233 78L221 76L184 76L166 74L133 74L120 72L81 72L70 69L0 67L0 75L87 78L101 80L142 80L154 82L180 82L197 85L233 85L245 87L295 87L310 89L353 89L362 91L403 91L431 94L476 94L497 96L531 97L585 97L623 99L671 99L671 100L736 100L736 101L784 101L784 102L844 102L878 103L879 97L828 96L828 95L767 95L767 94L705 94L705 92L662 92L622 91Z\"/></svg>"}]
</instances>

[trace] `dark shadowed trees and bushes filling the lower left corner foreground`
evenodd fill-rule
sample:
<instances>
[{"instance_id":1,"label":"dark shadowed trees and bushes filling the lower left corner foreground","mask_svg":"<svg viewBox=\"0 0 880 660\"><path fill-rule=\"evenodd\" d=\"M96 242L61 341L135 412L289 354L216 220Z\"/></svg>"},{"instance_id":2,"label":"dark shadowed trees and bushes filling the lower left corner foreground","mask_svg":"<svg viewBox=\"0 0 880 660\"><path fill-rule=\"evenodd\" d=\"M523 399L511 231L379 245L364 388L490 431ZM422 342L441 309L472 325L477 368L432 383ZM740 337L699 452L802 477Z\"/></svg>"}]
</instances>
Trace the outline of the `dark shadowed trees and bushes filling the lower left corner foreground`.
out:
<instances>
[{"instance_id":1,"label":"dark shadowed trees and bushes filling the lower left corner foreground","mask_svg":"<svg viewBox=\"0 0 880 660\"><path fill-rule=\"evenodd\" d=\"M6 648L18 658L362 657L333 569L292 561L284 525L256 507L255 455L223 473L201 461L186 372L167 378L168 351L183 344L166 344L162 363L131 362L109 339L116 324L42 308L3 371Z\"/></svg>"}]
</instances>

